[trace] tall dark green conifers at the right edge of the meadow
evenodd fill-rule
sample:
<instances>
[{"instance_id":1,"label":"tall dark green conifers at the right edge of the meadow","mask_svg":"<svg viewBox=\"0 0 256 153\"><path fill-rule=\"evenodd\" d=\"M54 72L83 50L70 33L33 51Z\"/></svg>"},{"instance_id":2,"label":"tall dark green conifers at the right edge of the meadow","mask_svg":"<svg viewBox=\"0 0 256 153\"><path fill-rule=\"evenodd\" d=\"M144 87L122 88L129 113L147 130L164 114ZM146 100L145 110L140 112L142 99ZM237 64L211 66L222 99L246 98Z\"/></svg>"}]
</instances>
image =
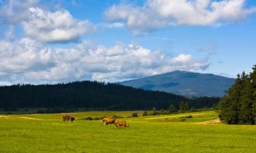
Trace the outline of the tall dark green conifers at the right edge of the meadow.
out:
<instances>
[{"instance_id":1,"label":"tall dark green conifers at the right edge of the meadow","mask_svg":"<svg viewBox=\"0 0 256 153\"><path fill-rule=\"evenodd\" d=\"M256 124L256 65L251 73L237 75L219 107L220 118L227 124Z\"/></svg>"}]
</instances>

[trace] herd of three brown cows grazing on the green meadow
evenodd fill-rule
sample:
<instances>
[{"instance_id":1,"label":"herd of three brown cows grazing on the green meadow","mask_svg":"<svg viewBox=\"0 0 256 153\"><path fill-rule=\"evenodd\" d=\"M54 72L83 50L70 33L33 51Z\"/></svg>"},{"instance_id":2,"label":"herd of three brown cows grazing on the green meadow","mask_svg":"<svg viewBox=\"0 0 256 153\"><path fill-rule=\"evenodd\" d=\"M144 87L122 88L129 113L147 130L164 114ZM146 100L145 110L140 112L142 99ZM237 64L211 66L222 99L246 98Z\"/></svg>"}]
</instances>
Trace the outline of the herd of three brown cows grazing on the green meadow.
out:
<instances>
[{"instance_id":1,"label":"herd of three brown cows grazing on the green meadow","mask_svg":"<svg viewBox=\"0 0 256 153\"><path fill-rule=\"evenodd\" d=\"M76 122L76 119L74 118L74 116L64 115L62 118L63 118L63 121L68 120L69 122ZM102 118L101 122L103 122L104 125L115 124L115 127L117 127L117 128L119 126L123 126L124 128L129 127L129 124L126 121L116 120L115 118L112 118L112 117L104 117L104 118Z\"/></svg>"}]
</instances>

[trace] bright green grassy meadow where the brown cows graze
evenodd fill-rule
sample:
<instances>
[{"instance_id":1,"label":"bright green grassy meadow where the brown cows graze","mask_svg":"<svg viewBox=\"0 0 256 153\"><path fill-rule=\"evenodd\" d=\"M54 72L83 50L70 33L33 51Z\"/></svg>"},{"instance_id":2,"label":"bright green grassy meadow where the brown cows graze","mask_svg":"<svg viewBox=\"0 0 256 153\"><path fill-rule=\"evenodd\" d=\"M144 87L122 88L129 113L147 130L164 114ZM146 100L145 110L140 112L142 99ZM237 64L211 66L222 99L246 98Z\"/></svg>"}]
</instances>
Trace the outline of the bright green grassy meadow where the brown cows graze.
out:
<instances>
[{"instance_id":1,"label":"bright green grassy meadow where the brown cows graze","mask_svg":"<svg viewBox=\"0 0 256 153\"><path fill-rule=\"evenodd\" d=\"M139 112L139 111L137 111ZM142 112L139 112L141 114ZM0 115L0 152L255 152L256 126L218 122L213 111L122 118L130 127L116 129L88 116L131 116L132 112ZM192 115L193 118L184 118Z\"/></svg>"}]
</instances>

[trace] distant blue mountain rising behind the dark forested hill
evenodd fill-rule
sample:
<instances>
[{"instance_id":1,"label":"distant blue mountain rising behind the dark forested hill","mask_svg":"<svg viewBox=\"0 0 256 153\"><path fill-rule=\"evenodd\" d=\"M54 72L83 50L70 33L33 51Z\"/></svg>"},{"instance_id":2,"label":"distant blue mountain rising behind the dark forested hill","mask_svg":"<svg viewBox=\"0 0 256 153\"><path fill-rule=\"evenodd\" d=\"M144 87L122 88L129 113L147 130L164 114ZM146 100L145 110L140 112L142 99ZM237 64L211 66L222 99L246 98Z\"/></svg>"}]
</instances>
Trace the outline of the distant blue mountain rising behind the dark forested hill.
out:
<instances>
[{"instance_id":1,"label":"distant blue mountain rising behind the dark forested hill","mask_svg":"<svg viewBox=\"0 0 256 153\"><path fill-rule=\"evenodd\" d=\"M209 73L194 73L189 71L173 71L147 78L117 82L124 86L159 90L188 97L223 97L235 81L233 78Z\"/></svg>"}]
</instances>

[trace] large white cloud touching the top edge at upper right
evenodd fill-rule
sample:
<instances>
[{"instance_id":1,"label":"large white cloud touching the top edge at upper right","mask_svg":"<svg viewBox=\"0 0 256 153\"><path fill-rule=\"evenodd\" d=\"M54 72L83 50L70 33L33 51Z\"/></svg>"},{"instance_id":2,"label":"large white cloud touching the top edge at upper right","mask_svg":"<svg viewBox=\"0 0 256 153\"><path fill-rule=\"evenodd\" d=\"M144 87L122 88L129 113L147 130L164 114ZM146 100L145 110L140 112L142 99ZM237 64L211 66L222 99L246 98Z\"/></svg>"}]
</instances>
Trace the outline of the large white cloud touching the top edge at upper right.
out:
<instances>
[{"instance_id":1,"label":"large white cloud touching the top edge at upper right","mask_svg":"<svg viewBox=\"0 0 256 153\"><path fill-rule=\"evenodd\" d=\"M256 12L245 0L147 0L142 7L120 3L104 15L109 22L122 21L134 35L173 24L205 26L241 22Z\"/></svg>"}]
</instances>

